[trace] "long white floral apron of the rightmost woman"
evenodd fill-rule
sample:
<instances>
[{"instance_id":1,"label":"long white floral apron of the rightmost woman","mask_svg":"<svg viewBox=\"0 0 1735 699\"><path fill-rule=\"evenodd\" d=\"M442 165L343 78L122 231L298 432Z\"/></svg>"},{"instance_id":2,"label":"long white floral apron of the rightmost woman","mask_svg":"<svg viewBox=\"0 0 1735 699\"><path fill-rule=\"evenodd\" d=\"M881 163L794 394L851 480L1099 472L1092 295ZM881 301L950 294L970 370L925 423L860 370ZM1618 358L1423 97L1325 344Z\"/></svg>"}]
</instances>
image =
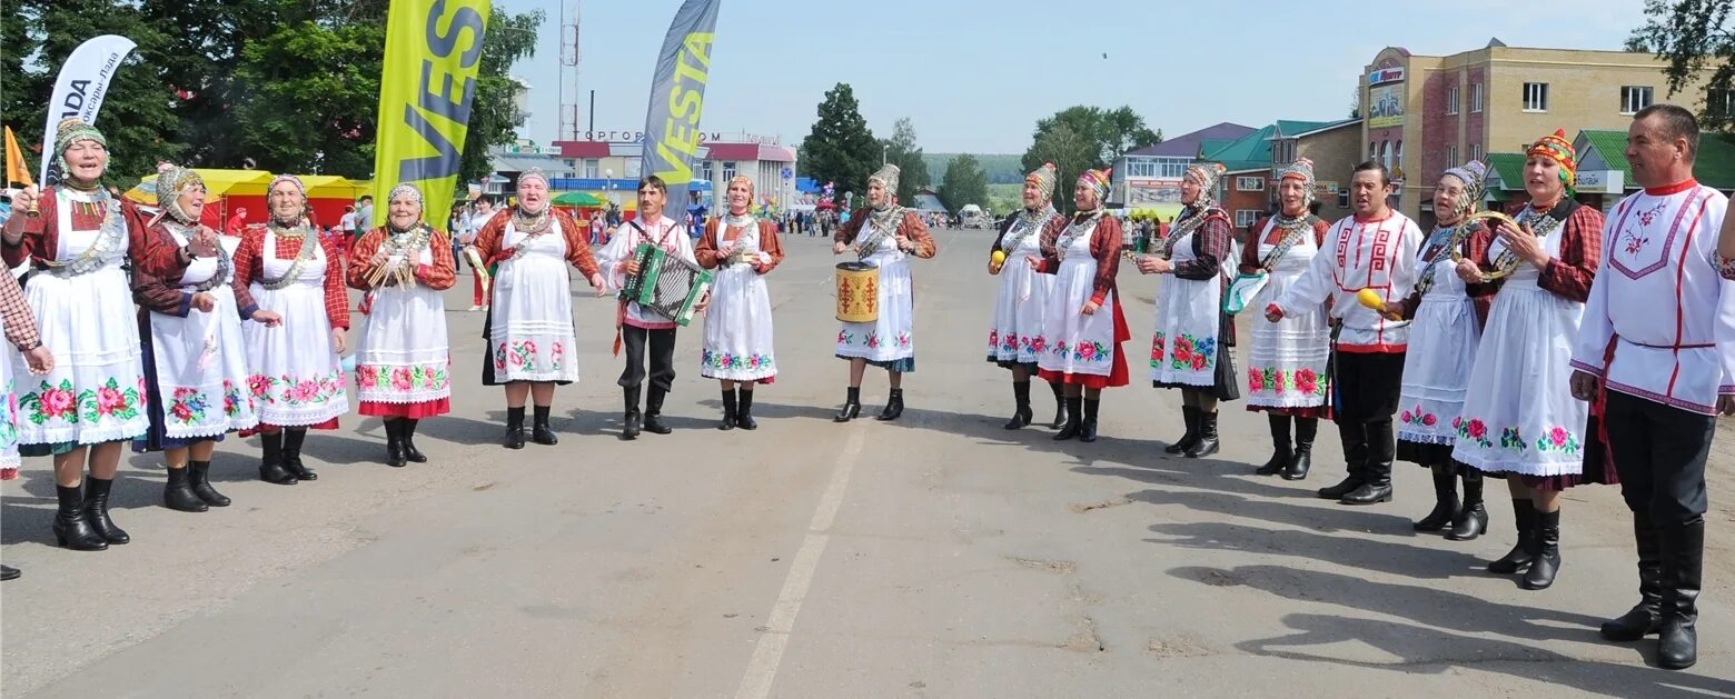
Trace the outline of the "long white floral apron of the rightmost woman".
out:
<instances>
[{"instance_id":1,"label":"long white floral apron of the rightmost woman","mask_svg":"<svg viewBox=\"0 0 1735 699\"><path fill-rule=\"evenodd\" d=\"M1565 225L1542 238L1560 257ZM1506 250L1489 246L1489 258ZM1572 397L1572 343L1584 304L1537 286L1529 262L1506 279L1470 373L1452 458L1490 474L1577 475L1582 472L1589 404Z\"/></svg>"}]
</instances>

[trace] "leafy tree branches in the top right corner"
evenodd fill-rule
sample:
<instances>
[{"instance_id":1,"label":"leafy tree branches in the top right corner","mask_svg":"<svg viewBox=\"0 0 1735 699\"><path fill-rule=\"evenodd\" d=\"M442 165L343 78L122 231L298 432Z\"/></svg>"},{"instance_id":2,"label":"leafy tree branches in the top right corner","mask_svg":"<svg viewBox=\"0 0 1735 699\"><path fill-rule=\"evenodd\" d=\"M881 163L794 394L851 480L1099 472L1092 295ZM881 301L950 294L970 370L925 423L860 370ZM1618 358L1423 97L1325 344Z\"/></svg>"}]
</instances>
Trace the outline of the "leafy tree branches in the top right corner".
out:
<instances>
[{"instance_id":1,"label":"leafy tree branches in the top right corner","mask_svg":"<svg viewBox=\"0 0 1735 699\"><path fill-rule=\"evenodd\" d=\"M1647 47L1667 62L1662 73L1669 76L1669 95L1695 83L1700 71L1716 66L1707 80L1702 127L1728 130L1735 127L1735 109L1730 109L1730 92L1735 88L1735 31L1730 10L1735 0L1645 0L1645 24L1633 29L1627 49ZM1697 97L1697 95L1695 95Z\"/></svg>"}]
</instances>

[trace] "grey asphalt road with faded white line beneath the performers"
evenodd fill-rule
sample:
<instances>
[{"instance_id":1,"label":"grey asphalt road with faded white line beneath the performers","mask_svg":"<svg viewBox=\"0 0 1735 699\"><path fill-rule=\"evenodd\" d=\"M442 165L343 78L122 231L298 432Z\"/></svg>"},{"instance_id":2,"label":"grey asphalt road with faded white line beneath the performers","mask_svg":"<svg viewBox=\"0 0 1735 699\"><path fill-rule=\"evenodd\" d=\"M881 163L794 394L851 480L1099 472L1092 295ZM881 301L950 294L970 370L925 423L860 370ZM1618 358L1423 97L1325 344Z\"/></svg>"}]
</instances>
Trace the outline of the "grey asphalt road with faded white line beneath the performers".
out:
<instances>
[{"instance_id":1,"label":"grey asphalt road with faded white line beneath the performers","mask_svg":"<svg viewBox=\"0 0 1735 699\"><path fill-rule=\"evenodd\" d=\"M1263 416L1230 404L1216 458L1166 458L1180 397L1110 390L1102 441L1001 428L1006 373L982 361L989 238L942 231L916 265L918 371L897 423L831 423L829 245L791 238L769 279L776 385L760 430L717 432L697 328L680 335L675 434L614 437L612 307L578 284L583 382L555 402L560 444L505 451L479 385L468 279L448 295L455 416L423 423L427 465L382 463L378 420L307 441L321 479L255 479L257 446L213 467L234 506L161 508L134 456L115 519L134 543L52 548L54 487L29 461L3 487L0 690L9 697L1135 697L1735 696L1735 557L1725 430L1700 661L1650 668L1655 642L1607 643L1636 598L1619 493L1567 494L1565 565L1525 591L1480 567L1513 541L1411 531L1431 506L1400 465L1395 503L1312 496L1315 475L1251 475ZM1121 276L1143 376L1152 278ZM1149 383L1147 383L1149 385ZM1044 392L1038 392L1044 394ZM869 373L866 413L885 399ZM1046 416L1046 397L1038 399Z\"/></svg>"}]
</instances>

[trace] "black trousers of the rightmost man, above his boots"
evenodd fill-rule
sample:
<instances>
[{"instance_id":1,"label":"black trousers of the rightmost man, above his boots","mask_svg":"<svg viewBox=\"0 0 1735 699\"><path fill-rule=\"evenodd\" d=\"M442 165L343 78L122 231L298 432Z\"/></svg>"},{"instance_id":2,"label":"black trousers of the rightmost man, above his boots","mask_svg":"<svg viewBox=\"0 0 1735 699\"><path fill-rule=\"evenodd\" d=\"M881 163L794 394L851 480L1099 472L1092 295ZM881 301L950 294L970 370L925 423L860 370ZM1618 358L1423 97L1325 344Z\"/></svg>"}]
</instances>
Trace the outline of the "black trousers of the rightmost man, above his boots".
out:
<instances>
[{"instance_id":1,"label":"black trousers of the rightmost man, above his boots","mask_svg":"<svg viewBox=\"0 0 1735 699\"><path fill-rule=\"evenodd\" d=\"M1610 390L1603 423L1629 510L1648 512L1660 529L1704 520L1716 416Z\"/></svg>"}]
</instances>

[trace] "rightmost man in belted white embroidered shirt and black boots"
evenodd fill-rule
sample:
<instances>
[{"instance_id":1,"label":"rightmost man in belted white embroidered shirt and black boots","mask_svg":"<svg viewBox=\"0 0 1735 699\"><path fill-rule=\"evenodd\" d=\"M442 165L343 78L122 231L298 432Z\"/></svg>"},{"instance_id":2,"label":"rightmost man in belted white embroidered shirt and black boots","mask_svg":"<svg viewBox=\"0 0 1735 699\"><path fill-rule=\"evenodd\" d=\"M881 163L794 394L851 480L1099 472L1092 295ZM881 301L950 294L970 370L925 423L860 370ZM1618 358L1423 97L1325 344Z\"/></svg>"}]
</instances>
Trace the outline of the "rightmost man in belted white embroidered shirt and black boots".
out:
<instances>
[{"instance_id":1,"label":"rightmost man in belted white embroidered shirt and black boots","mask_svg":"<svg viewBox=\"0 0 1735 699\"><path fill-rule=\"evenodd\" d=\"M1657 664L1690 668L1706 545L1706 456L1716 415L1735 415L1735 281L1718 276L1712 231L1728 199L1693 180L1699 123L1673 104L1640 111L1627 161L1645 191L1603 231L1603 260L1572 352L1572 394L1601 416L1633 510L1640 604L1608 640L1659 633Z\"/></svg>"}]
</instances>

